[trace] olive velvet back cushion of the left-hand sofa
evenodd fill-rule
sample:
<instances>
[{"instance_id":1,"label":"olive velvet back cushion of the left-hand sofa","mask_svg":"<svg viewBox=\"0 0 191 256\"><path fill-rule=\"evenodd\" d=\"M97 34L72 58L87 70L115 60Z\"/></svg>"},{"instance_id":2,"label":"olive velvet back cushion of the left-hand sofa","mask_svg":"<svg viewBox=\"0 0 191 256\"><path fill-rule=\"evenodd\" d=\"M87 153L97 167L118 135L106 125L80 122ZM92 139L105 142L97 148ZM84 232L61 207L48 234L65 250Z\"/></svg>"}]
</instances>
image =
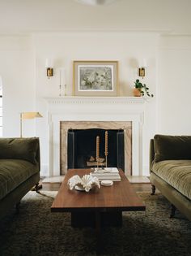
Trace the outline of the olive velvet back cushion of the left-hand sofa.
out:
<instances>
[{"instance_id":1,"label":"olive velvet back cushion of the left-hand sofa","mask_svg":"<svg viewBox=\"0 0 191 256\"><path fill-rule=\"evenodd\" d=\"M36 164L39 138L0 138L0 158L23 159Z\"/></svg>"}]
</instances>

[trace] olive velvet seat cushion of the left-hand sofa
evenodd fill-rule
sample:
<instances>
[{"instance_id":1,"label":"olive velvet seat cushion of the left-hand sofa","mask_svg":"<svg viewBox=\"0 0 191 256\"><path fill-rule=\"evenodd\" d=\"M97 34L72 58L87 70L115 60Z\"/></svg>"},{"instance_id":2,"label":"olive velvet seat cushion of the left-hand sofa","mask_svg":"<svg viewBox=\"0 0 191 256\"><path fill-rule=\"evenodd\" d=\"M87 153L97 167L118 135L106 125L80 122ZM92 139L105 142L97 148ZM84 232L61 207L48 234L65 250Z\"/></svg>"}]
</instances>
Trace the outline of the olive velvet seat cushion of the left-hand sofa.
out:
<instances>
[{"instance_id":1,"label":"olive velvet seat cushion of the left-hand sofa","mask_svg":"<svg viewBox=\"0 0 191 256\"><path fill-rule=\"evenodd\" d=\"M25 160L0 159L0 200L38 171L37 164Z\"/></svg>"}]
</instances>

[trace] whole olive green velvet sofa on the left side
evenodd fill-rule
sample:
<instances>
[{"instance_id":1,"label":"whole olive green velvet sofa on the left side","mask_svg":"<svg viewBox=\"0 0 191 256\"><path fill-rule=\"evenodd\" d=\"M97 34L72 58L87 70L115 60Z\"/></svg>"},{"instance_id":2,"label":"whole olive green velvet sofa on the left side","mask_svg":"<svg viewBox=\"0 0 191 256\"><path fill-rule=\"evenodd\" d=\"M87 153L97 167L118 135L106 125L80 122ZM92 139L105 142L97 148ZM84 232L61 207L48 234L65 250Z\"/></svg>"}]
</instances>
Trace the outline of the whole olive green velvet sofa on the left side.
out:
<instances>
[{"instance_id":1,"label":"whole olive green velvet sofa on the left side","mask_svg":"<svg viewBox=\"0 0 191 256\"><path fill-rule=\"evenodd\" d=\"M39 180L39 138L0 138L0 218Z\"/></svg>"}]
</instances>

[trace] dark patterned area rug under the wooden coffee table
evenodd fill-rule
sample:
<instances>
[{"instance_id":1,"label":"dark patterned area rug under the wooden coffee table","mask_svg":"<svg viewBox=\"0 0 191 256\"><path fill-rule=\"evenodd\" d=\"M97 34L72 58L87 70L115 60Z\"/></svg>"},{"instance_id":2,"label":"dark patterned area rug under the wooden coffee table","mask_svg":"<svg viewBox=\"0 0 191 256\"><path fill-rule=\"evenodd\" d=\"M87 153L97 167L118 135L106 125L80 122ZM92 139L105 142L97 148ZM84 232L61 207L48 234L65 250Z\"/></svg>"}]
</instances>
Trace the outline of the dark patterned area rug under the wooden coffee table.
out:
<instances>
[{"instance_id":1,"label":"dark patterned area rug under the wooden coffee table","mask_svg":"<svg viewBox=\"0 0 191 256\"><path fill-rule=\"evenodd\" d=\"M19 215L0 220L0 255L97 255L93 228L71 228L69 213L51 213L57 192L29 192ZM122 228L102 230L100 255L191 255L191 222L179 212L169 219L170 203L161 195L138 193L146 212L124 212Z\"/></svg>"}]
</instances>

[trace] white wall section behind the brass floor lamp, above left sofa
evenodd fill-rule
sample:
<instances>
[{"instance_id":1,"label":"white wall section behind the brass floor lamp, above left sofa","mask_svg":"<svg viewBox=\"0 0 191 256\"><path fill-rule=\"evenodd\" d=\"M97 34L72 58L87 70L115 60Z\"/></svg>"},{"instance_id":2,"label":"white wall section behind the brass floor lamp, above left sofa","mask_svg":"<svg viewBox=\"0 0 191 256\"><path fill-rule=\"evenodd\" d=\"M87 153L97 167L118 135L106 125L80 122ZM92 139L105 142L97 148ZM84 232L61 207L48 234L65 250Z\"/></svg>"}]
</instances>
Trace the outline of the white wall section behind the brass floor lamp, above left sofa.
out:
<instances>
[{"instance_id":1,"label":"white wall section behind the brass floor lamp, above left sofa","mask_svg":"<svg viewBox=\"0 0 191 256\"><path fill-rule=\"evenodd\" d=\"M0 37L3 137L19 137L19 113L35 109L33 56L30 37ZM34 135L34 121L23 124L23 136Z\"/></svg>"}]
</instances>

